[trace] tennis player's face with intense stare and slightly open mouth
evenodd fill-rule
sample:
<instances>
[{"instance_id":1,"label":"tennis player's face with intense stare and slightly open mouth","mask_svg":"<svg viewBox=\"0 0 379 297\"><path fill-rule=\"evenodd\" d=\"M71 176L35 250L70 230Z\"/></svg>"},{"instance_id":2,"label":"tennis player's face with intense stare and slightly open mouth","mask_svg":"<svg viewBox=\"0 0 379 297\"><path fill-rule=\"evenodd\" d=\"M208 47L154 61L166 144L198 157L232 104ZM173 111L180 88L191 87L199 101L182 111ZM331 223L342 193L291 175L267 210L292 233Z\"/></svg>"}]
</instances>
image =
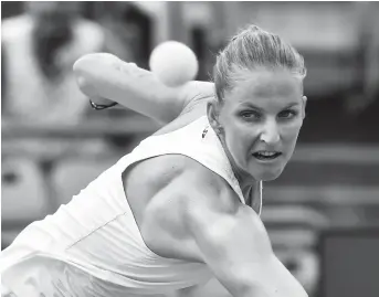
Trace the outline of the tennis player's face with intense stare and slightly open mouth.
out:
<instances>
[{"instance_id":1,"label":"tennis player's face with intense stare and slightly open mouth","mask_svg":"<svg viewBox=\"0 0 379 297\"><path fill-rule=\"evenodd\" d=\"M238 176L273 180L282 173L305 116L302 84L285 70L239 71L211 120Z\"/></svg>"}]
</instances>

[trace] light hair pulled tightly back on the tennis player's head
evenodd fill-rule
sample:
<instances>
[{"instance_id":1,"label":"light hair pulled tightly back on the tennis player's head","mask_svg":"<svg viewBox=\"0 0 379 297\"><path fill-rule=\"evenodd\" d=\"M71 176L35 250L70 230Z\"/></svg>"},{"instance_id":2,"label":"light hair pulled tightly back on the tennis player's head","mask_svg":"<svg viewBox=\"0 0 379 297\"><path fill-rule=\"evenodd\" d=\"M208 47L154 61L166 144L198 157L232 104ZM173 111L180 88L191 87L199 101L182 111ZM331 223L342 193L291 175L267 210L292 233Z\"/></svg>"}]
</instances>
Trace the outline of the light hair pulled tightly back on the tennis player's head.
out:
<instances>
[{"instance_id":1,"label":"light hair pulled tightly back on the tennis player's head","mask_svg":"<svg viewBox=\"0 0 379 297\"><path fill-rule=\"evenodd\" d=\"M257 25L249 25L217 56L213 81L219 103L223 102L225 91L234 87L238 71L256 68L285 68L301 79L306 76L304 59L289 43Z\"/></svg>"}]
</instances>

